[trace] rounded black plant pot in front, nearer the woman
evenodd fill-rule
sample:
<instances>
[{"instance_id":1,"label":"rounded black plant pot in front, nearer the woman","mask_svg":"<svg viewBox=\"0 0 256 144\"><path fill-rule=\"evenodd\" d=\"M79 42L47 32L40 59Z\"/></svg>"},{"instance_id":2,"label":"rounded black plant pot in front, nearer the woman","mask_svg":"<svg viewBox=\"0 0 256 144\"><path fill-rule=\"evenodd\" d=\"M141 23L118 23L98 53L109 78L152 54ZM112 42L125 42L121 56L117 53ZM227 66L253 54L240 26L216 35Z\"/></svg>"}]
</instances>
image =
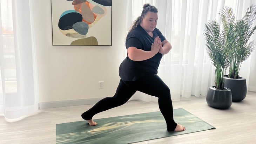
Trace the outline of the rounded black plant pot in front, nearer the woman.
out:
<instances>
[{"instance_id":1,"label":"rounded black plant pot in front, nearer the woman","mask_svg":"<svg viewBox=\"0 0 256 144\"><path fill-rule=\"evenodd\" d=\"M210 87L207 92L206 102L210 107L216 109L228 109L232 104L231 90L229 88L221 90L216 89L215 86Z\"/></svg>"}]
</instances>

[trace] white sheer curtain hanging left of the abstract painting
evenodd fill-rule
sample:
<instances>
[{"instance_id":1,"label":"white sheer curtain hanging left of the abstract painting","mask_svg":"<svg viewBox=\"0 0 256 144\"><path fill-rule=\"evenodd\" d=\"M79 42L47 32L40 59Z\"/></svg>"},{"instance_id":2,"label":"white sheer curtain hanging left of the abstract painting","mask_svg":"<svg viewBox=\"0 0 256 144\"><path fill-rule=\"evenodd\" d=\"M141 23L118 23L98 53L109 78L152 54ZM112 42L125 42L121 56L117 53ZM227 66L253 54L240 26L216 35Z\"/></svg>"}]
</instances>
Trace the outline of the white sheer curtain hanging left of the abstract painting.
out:
<instances>
[{"instance_id":1,"label":"white sheer curtain hanging left of the abstract painting","mask_svg":"<svg viewBox=\"0 0 256 144\"><path fill-rule=\"evenodd\" d=\"M30 0L0 1L0 115L38 110L38 82Z\"/></svg>"}]
</instances>

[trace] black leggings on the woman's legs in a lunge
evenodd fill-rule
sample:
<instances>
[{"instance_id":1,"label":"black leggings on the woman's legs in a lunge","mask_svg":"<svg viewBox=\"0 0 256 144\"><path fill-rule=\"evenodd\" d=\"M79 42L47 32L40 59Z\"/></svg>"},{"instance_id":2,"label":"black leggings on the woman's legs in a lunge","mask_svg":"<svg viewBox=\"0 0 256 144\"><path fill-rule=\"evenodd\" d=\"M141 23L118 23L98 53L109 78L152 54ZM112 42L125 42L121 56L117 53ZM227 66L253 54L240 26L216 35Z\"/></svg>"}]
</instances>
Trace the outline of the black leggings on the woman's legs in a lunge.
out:
<instances>
[{"instance_id":1,"label":"black leggings on the woman's legs in a lunge","mask_svg":"<svg viewBox=\"0 0 256 144\"><path fill-rule=\"evenodd\" d=\"M176 123L173 119L173 104L168 86L156 74L146 74L136 81L123 81L117 87L113 97L106 97L97 102L92 108L82 114L82 118L89 120L99 112L118 107L126 103L136 91L158 97L159 109L166 121L167 130L173 131Z\"/></svg>"}]
</instances>

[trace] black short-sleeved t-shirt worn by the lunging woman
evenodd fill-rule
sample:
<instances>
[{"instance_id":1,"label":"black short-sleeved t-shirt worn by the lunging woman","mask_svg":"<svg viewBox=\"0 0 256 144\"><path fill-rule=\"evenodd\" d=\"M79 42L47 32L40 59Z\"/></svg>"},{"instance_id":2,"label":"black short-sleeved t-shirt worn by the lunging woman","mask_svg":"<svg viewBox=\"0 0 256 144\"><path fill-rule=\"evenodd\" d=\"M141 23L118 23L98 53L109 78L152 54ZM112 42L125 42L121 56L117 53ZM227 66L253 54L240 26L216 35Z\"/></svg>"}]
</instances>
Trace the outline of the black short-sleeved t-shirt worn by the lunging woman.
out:
<instances>
[{"instance_id":1,"label":"black short-sleeved t-shirt worn by the lunging woman","mask_svg":"<svg viewBox=\"0 0 256 144\"><path fill-rule=\"evenodd\" d=\"M151 50L151 45L154 43L156 36L159 36L161 42L166 40L159 29L155 28L153 31L153 37L151 37L140 25L131 30L126 38L126 49L129 47L136 47L145 51ZM128 55L123 60L119 67L119 76L124 81L136 81L140 76L146 73L157 74L160 61L163 55L157 53L155 56L144 61L133 61L129 59Z\"/></svg>"}]
</instances>

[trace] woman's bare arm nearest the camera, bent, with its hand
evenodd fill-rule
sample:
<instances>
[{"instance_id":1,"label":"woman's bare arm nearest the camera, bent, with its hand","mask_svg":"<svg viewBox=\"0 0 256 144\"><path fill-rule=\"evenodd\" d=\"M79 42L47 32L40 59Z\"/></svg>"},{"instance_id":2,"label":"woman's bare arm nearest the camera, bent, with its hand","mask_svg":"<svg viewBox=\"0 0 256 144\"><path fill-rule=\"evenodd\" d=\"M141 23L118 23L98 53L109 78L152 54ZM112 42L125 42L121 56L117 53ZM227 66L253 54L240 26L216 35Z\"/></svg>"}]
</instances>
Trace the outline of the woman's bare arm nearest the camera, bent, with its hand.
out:
<instances>
[{"instance_id":1,"label":"woman's bare arm nearest the camera, bent, with its hand","mask_svg":"<svg viewBox=\"0 0 256 144\"><path fill-rule=\"evenodd\" d=\"M143 60L150 59L155 54L157 54L161 46L162 46L162 42L160 38L155 37L154 43L152 43L150 51L145 51L142 49L138 49L136 47L129 47L127 49L127 54L129 59L133 61L143 61Z\"/></svg>"}]
</instances>

